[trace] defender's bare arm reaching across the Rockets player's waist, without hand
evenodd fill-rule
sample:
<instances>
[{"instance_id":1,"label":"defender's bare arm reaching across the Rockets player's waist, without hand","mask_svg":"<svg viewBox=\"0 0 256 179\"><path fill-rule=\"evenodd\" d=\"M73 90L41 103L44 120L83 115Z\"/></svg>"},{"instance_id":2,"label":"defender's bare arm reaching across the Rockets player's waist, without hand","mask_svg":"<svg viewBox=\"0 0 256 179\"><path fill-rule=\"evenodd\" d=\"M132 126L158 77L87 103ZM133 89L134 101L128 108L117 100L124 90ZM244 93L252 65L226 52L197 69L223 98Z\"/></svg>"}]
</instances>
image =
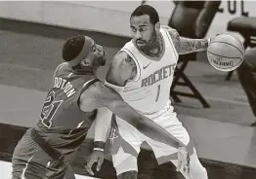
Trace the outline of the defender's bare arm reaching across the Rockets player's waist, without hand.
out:
<instances>
[{"instance_id":1,"label":"defender's bare arm reaching across the Rockets player's waist, without hand","mask_svg":"<svg viewBox=\"0 0 256 179\"><path fill-rule=\"evenodd\" d=\"M118 92L107 88L102 82L97 82L90 86L80 96L80 108L85 112L105 106L119 118L133 125L149 138L175 148L185 146L164 128L139 114L123 101Z\"/></svg>"}]
</instances>

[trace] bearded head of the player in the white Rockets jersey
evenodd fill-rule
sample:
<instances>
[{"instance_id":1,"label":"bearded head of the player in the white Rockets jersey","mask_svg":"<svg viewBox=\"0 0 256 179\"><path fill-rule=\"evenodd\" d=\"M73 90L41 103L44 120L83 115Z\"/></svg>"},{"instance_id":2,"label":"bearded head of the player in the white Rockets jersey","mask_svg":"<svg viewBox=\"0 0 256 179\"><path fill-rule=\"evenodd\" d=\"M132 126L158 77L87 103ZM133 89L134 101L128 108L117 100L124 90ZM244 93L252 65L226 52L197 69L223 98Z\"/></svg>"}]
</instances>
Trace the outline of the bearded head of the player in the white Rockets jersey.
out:
<instances>
[{"instance_id":1,"label":"bearded head of the player in the white Rockets jersey","mask_svg":"<svg viewBox=\"0 0 256 179\"><path fill-rule=\"evenodd\" d=\"M130 27L136 45L143 49L156 39L156 32L160 29L158 13L149 5L141 5L132 13Z\"/></svg>"}]
</instances>

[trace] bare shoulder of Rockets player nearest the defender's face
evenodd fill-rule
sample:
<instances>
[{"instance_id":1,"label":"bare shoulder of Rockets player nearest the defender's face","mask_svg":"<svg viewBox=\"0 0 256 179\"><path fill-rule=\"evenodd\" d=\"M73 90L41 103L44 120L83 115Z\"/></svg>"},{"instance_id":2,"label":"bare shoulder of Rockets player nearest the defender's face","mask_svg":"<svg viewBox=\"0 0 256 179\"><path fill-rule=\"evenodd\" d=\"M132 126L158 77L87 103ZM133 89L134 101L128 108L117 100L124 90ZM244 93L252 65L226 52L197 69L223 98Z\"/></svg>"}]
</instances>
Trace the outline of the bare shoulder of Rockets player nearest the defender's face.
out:
<instances>
[{"instance_id":1,"label":"bare shoulder of Rockets player nearest the defender's face","mask_svg":"<svg viewBox=\"0 0 256 179\"><path fill-rule=\"evenodd\" d=\"M110 63L106 80L110 84L124 87L136 74L136 62L126 52L119 51Z\"/></svg>"}]
</instances>

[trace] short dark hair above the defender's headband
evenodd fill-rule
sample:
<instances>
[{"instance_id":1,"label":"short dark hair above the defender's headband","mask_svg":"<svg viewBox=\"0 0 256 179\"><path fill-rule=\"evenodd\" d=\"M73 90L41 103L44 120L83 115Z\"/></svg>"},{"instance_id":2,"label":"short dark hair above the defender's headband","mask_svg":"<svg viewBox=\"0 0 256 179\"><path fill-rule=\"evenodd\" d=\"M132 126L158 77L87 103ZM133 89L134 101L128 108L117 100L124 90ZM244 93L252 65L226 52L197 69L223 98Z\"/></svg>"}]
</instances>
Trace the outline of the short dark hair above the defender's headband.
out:
<instances>
[{"instance_id":1,"label":"short dark hair above the defender's headband","mask_svg":"<svg viewBox=\"0 0 256 179\"><path fill-rule=\"evenodd\" d=\"M82 35L74 36L69 38L64 43L63 58L65 61L71 61L78 54L81 53L85 43L85 38Z\"/></svg>"}]
</instances>

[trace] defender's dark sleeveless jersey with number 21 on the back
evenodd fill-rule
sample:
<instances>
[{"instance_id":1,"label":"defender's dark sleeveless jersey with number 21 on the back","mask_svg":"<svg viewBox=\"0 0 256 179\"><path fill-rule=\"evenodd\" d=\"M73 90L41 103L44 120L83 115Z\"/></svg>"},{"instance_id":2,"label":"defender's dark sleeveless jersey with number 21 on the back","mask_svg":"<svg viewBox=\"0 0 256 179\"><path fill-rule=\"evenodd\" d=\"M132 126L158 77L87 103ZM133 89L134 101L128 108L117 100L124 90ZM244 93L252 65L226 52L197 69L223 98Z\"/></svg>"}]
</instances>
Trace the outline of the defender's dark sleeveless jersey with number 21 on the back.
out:
<instances>
[{"instance_id":1,"label":"defender's dark sleeveless jersey with number 21 on the back","mask_svg":"<svg viewBox=\"0 0 256 179\"><path fill-rule=\"evenodd\" d=\"M79 97L92 76L76 74L68 63L56 69L35 129L62 154L68 154L84 140L92 125L96 110L85 113L79 108Z\"/></svg>"}]
</instances>

